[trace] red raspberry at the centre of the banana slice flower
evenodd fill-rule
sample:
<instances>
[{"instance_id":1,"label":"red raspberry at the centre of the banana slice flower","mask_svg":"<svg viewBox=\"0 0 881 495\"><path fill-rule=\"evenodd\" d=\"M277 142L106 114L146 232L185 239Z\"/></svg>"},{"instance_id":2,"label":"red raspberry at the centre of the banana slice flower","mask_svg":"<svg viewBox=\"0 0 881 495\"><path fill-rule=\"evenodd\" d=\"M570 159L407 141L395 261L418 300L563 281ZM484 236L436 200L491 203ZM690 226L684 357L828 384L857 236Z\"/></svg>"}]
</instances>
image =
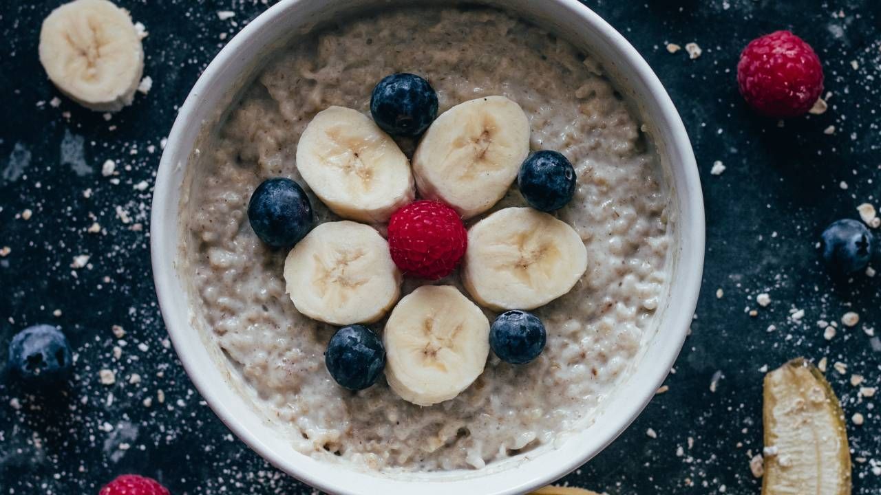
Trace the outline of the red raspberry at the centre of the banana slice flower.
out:
<instances>
[{"instance_id":1,"label":"red raspberry at the centre of the banana slice flower","mask_svg":"<svg viewBox=\"0 0 881 495\"><path fill-rule=\"evenodd\" d=\"M391 259L406 275L428 280L446 277L467 246L462 218L444 203L410 203L389 220Z\"/></svg>"}]
</instances>

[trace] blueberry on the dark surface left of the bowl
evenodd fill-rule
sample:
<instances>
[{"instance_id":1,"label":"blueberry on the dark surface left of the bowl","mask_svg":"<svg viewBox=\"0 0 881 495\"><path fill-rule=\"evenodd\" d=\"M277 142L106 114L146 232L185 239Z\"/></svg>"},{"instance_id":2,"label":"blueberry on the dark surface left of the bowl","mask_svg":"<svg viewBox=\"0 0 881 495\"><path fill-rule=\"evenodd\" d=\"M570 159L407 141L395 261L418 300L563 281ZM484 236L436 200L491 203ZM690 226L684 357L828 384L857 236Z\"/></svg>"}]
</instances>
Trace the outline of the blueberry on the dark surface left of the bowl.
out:
<instances>
[{"instance_id":1,"label":"blueberry on the dark surface left of the bowl","mask_svg":"<svg viewBox=\"0 0 881 495\"><path fill-rule=\"evenodd\" d=\"M28 327L12 337L9 344L9 367L23 380L62 380L72 365L67 338L55 327Z\"/></svg>"}]
</instances>

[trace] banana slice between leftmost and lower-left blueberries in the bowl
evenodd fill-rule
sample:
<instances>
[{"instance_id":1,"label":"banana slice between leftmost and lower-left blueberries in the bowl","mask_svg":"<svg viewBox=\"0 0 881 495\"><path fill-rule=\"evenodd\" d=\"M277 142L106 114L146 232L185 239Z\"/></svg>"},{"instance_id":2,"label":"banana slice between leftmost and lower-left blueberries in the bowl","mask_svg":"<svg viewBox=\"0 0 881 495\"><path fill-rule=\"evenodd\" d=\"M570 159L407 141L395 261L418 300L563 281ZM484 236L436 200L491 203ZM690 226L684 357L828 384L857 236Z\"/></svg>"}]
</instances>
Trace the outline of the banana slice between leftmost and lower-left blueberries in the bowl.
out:
<instances>
[{"instance_id":1,"label":"banana slice between leftmost and lower-left blueberries in the bowl","mask_svg":"<svg viewBox=\"0 0 881 495\"><path fill-rule=\"evenodd\" d=\"M374 228L350 221L318 225L285 259L297 311L333 325L379 320L401 295L401 272Z\"/></svg>"}]
</instances>

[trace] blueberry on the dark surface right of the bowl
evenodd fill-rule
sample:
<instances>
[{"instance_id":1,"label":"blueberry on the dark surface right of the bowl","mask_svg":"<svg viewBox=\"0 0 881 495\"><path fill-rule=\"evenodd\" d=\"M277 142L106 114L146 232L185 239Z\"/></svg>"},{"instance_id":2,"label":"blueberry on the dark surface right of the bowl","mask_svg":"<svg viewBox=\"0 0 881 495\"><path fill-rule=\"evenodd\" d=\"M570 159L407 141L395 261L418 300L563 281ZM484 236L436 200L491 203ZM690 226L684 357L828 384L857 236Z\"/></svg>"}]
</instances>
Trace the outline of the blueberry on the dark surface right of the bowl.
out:
<instances>
[{"instance_id":1,"label":"blueberry on the dark surface right of the bowl","mask_svg":"<svg viewBox=\"0 0 881 495\"><path fill-rule=\"evenodd\" d=\"M823 231L823 261L835 275L865 270L872 256L872 234L862 222L844 218Z\"/></svg>"}]
</instances>

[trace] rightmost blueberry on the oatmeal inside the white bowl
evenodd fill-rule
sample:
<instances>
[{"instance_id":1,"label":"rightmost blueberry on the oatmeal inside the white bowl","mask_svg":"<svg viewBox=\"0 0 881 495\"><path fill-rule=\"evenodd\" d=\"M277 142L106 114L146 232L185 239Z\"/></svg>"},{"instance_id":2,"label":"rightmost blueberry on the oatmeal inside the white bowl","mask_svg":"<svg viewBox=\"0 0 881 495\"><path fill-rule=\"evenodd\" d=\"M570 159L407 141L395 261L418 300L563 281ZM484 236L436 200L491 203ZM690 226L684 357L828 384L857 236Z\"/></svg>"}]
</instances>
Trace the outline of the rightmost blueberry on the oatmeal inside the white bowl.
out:
<instances>
[{"instance_id":1,"label":"rightmost blueberry on the oatmeal inside the white bowl","mask_svg":"<svg viewBox=\"0 0 881 495\"><path fill-rule=\"evenodd\" d=\"M557 151L536 151L520 166L517 187L536 210L559 210L575 194L575 169Z\"/></svg>"}]
</instances>

